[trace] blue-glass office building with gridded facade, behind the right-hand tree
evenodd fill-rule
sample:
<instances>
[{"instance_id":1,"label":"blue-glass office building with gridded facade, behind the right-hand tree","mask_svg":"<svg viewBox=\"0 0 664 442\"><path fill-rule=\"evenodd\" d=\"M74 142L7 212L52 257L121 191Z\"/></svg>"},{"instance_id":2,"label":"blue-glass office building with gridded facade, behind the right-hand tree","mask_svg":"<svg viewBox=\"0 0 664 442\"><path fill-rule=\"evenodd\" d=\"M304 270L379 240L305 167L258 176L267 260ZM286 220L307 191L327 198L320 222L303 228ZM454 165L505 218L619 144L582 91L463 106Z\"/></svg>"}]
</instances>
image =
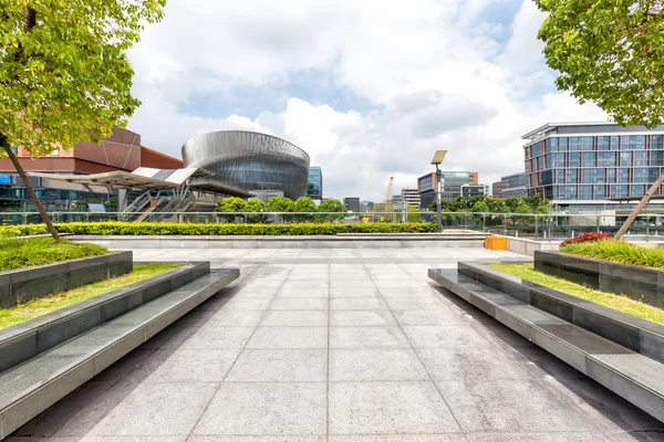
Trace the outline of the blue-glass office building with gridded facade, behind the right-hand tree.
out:
<instances>
[{"instance_id":1,"label":"blue-glass office building with gridded facade, behind the right-hand tree","mask_svg":"<svg viewBox=\"0 0 664 442\"><path fill-rule=\"evenodd\" d=\"M664 125L547 124L522 137L530 140L523 147L528 196L553 202L643 197L664 171L663 136Z\"/></svg>"}]
</instances>

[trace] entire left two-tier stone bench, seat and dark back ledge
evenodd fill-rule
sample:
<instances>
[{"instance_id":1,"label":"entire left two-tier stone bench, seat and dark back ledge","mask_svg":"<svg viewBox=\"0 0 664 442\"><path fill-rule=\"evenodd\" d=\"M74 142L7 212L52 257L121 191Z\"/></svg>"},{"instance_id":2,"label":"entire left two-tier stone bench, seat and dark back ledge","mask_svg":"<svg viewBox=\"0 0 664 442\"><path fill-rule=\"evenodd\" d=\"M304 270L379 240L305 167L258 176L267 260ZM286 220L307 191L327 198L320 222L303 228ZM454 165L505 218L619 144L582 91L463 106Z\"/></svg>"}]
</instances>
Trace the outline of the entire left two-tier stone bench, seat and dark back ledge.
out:
<instances>
[{"instance_id":1,"label":"entire left two-tier stone bench, seat and dark back ledge","mask_svg":"<svg viewBox=\"0 0 664 442\"><path fill-rule=\"evenodd\" d=\"M239 277L190 263L0 333L0 440Z\"/></svg>"}]
</instances>

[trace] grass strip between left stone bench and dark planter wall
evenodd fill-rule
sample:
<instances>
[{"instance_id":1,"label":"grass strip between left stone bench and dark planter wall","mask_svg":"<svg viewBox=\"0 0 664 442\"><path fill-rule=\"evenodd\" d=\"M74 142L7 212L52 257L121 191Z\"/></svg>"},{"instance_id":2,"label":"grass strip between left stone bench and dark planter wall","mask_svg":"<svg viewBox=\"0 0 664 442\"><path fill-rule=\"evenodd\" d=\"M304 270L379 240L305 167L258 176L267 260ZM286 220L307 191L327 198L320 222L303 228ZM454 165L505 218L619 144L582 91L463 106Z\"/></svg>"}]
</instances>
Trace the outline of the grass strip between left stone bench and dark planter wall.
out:
<instances>
[{"instance_id":1,"label":"grass strip between left stone bench and dark planter wall","mask_svg":"<svg viewBox=\"0 0 664 442\"><path fill-rule=\"evenodd\" d=\"M54 293L50 296L32 299L12 308L0 309L0 329L103 295L114 290L126 287L127 285L160 275L162 273L166 273L179 266L181 266L181 264L136 264L134 265L134 271L126 275L82 285L66 292Z\"/></svg>"}]
</instances>

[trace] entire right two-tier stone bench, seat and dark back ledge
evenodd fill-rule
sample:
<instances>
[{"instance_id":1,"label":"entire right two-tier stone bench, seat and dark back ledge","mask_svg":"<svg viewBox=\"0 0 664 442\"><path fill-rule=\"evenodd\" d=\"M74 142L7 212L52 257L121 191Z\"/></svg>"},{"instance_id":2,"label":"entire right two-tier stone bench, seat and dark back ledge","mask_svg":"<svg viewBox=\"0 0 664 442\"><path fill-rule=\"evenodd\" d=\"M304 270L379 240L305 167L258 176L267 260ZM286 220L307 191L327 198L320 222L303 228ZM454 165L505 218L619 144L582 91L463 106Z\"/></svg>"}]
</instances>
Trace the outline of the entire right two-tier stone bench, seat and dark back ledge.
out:
<instances>
[{"instance_id":1,"label":"entire right two-tier stone bench, seat and dark back ledge","mask_svg":"<svg viewBox=\"0 0 664 442\"><path fill-rule=\"evenodd\" d=\"M664 422L664 326L478 263L429 269L428 275Z\"/></svg>"}]
</instances>

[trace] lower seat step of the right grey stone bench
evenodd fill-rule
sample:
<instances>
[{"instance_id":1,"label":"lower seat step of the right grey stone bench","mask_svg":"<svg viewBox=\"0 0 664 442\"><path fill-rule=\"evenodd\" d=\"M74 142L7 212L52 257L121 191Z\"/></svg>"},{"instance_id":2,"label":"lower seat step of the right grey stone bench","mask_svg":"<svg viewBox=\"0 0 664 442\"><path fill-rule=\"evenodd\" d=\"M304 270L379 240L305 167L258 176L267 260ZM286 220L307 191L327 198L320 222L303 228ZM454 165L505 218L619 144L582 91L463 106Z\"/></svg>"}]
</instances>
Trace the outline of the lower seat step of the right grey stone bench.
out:
<instances>
[{"instance_id":1,"label":"lower seat step of the right grey stone bench","mask_svg":"<svg viewBox=\"0 0 664 442\"><path fill-rule=\"evenodd\" d=\"M449 292L664 422L664 364L657 359L456 270L432 269L428 275ZM525 285L523 290L527 288L529 286Z\"/></svg>"}]
</instances>

